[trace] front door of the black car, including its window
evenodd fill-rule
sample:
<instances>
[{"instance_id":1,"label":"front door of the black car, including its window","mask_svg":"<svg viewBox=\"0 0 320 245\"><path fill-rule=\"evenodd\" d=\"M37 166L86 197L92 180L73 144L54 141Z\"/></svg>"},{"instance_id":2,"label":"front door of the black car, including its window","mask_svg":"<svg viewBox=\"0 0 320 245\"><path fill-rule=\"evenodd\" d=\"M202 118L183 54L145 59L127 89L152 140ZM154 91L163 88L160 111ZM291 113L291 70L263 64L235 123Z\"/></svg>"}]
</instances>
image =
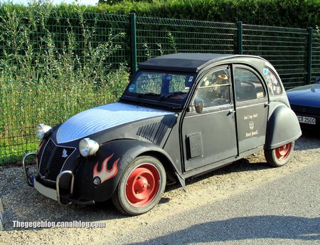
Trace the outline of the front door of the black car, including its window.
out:
<instances>
[{"instance_id":1,"label":"front door of the black car, including its window","mask_svg":"<svg viewBox=\"0 0 320 245\"><path fill-rule=\"evenodd\" d=\"M203 100L202 113L194 110L197 100ZM230 67L221 66L204 74L191 101L181 127L184 170L237 155Z\"/></svg>"}]
</instances>

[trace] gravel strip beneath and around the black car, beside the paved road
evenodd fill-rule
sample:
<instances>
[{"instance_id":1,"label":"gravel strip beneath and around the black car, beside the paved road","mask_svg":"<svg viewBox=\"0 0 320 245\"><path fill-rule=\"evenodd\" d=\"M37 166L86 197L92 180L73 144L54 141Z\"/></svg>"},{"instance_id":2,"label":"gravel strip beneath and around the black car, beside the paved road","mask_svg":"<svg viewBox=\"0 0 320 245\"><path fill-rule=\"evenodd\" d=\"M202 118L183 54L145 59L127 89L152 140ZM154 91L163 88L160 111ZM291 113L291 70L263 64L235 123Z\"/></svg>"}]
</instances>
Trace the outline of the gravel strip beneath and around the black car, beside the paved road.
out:
<instances>
[{"instance_id":1,"label":"gravel strip beneath and around the black car, beside the paved road","mask_svg":"<svg viewBox=\"0 0 320 245\"><path fill-rule=\"evenodd\" d=\"M102 244L122 237L134 229L161 221L168 217L209 202L255 189L265 182L272 182L290 172L320 162L320 136L304 134L296 142L294 157L284 167L271 168L262 152L235 162L223 169L201 177L188 179L187 192L178 184L166 189L160 204L151 212L139 217L119 214L110 202L91 206L70 205L62 207L55 201L38 194L28 187L21 167L0 169L0 197L4 203L4 231L0 231L0 244ZM14 228L13 221L104 221L105 228Z\"/></svg>"}]
</instances>

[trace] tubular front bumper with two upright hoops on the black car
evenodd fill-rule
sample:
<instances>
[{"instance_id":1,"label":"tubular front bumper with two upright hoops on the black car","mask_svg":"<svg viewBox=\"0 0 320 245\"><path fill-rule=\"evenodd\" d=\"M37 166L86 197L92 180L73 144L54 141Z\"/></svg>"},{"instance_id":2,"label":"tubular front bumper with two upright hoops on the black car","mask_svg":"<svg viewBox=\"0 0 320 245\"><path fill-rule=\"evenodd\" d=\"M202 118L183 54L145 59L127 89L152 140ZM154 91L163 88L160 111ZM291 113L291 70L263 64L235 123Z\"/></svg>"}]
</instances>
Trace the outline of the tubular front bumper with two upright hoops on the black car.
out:
<instances>
[{"instance_id":1,"label":"tubular front bumper with two upright hoops on the black car","mask_svg":"<svg viewBox=\"0 0 320 245\"><path fill-rule=\"evenodd\" d=\"M45 185L41 184L41 182L39 182L37 180L36 176L30 175L28 173L28 166L26 165L26 159L31 156L36 157L36 153L28 153L23 156L23 160L22 160L24 176L25 176L26 182L29 186L36 188L38 190L38 192L40 192L41 194L43 194L46 197L49 197L50 199L57 201L61 205L68 205L71 203L95 204L95 201L93 201L93 200L82 200L82 199L79 200L79 199L75 199L73 197L73 186L74 186L74 182L75 182L75 176L74 176L73 172L71 172L70 170L65 170L65 171L60 172L60 174L58 174L58 177L55 182L55 187L56 187L55 189L50 188L50 187L46 187ZM38 162L37 162L37 167L38 167ZM38 170L38 168L37 168L37 170ZM64 175L69 175L71 178L69 194L60 194L60 179Z\"/></svg>"}]
</instances>

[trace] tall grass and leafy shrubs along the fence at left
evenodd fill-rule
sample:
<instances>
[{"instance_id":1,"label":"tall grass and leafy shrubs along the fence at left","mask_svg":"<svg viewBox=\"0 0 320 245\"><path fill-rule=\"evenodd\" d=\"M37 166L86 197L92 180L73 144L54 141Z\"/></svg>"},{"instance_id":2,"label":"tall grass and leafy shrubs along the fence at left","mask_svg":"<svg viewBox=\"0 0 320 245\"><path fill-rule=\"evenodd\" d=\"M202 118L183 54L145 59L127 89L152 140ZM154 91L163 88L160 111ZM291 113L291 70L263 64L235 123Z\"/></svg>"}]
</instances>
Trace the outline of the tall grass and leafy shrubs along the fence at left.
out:
<instances>
[{"instance_id":1,"label":"tall grass and leafy shrubs along the fence at left","mask_svg":"<svg viewBox=\"0 0 320 245\"><path fill-rule=\"evenodd\" d=\"M54 19L46 6L29 9L28 16L0 13L0 165L36 150L38 123L53 126L112 103L129 80L119 63L124 33L110 27L97 36L97 22L81 12L77 26Z\"/></svg>"}]
</instances>

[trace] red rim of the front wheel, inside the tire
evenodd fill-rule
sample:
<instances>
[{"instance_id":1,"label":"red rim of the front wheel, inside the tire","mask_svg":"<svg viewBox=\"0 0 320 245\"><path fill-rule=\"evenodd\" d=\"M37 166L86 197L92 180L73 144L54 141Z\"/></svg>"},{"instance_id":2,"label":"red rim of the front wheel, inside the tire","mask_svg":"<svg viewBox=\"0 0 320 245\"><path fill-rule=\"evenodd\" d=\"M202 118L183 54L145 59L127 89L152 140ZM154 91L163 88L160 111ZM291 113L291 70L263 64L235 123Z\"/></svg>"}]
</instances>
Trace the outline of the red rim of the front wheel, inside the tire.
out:
<instances>
[{"instance_id":1,"label":"red rim of the front wheel, inside the tire","mask_svg":"<svg viewBox=\"0 0 320 245\"><path fill-rule=\"evenodd\" d=\"M127 180L126 197L133 207L144 207L149 204L159 191L159 172L148 163L139 165Z\"/></svg>"}]
</instances>

